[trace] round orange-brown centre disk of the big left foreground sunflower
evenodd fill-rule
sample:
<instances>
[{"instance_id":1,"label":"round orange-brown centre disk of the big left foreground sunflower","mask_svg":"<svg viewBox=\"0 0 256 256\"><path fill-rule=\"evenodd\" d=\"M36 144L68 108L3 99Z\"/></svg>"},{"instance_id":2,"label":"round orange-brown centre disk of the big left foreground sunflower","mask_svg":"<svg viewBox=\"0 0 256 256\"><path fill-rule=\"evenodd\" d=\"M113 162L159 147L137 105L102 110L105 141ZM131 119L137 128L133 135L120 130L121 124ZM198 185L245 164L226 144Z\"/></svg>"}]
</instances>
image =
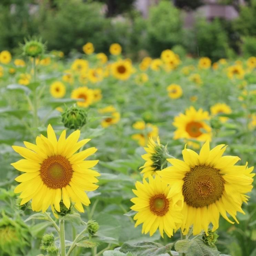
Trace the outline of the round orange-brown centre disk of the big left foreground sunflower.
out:
<instances>
[{"instance_id":1,"label":"round orange-brown centre disk of the big left foreground sunflower","mask_svg":"<svg viewBox=\"0 0 256 256\"><path fill-rule=\"evenodd\" d=\"M45 159L40 168L43 183L49 188L62 188L69 184L73 174L68 159L61 155L50 156Z\"/></svg>"}]
</instances>

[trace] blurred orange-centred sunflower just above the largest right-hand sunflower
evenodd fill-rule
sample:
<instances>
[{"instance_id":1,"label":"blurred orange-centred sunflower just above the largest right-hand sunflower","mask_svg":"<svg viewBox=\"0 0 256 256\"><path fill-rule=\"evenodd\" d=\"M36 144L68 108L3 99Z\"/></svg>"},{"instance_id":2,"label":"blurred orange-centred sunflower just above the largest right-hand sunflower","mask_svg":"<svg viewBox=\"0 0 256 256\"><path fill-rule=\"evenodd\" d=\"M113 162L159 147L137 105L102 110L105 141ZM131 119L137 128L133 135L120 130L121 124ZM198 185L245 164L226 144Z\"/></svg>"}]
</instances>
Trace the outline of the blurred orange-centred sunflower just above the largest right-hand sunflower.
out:
<instances>
[{"instance_id":1,"label":"blurred orange-centred sunflower just above the largest right-hand sunflower","mask_svg":"<svg viewBox=\"0 0 256 256\"><path fill-rule=\"evenodd\" d=\"M195 110L193 106L186 109L185 114L174 117L173 125L177 128L174 132L174 140L194 139L197 141L211 140L211 127L205 123L209 120L209 113L199 109Z\"/></svg>"}]
</instances>

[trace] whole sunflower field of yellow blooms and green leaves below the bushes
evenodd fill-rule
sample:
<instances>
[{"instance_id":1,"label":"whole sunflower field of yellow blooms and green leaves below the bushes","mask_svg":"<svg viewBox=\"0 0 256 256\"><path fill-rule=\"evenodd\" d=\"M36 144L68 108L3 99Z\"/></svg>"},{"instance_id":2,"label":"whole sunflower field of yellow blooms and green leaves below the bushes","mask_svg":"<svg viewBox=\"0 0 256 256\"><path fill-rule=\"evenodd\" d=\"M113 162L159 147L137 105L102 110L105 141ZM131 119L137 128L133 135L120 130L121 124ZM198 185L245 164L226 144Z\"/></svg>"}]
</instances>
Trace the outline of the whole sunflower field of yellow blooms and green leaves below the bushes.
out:
<instances>
[{"instance_id":1,"label":"whole sunflower field of yellow blooms and green leaves below the bushes","mask_svg":"<svg viewBox=\"0 0 256 256\"><path fill-rule=\"evenodd\" d=\"M0 256L256 255L256 57L21 48L0 52Z\"/></svg>"}]
</instances>

